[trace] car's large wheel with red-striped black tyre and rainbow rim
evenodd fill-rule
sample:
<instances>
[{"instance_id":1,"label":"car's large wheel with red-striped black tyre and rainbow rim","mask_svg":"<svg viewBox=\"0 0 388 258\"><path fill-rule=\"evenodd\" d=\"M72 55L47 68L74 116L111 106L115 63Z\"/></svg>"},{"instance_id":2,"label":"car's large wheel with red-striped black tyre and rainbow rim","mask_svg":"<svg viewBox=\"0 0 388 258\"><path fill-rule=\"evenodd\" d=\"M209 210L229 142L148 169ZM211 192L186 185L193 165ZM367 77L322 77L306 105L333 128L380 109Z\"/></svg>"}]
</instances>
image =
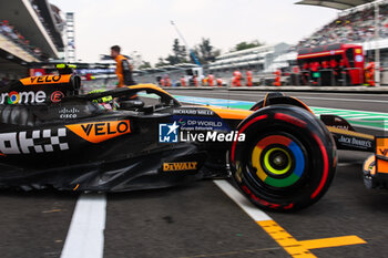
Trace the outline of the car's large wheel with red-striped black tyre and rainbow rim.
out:
<instances>
[{"instance_id":1,"label":"car's large wheel with red-striped black tyre and rainbow rim","mask_svg":"<svg viewBox=\"0 0 388 258\"><path fill-rule=\"evenodd\" d=\"M325 125L297 106L264 107L238 125L244 142L231 149L233 178L261 208L289 211L317 202L336 169L336 146Z\"/></svg>"}]
</instances>

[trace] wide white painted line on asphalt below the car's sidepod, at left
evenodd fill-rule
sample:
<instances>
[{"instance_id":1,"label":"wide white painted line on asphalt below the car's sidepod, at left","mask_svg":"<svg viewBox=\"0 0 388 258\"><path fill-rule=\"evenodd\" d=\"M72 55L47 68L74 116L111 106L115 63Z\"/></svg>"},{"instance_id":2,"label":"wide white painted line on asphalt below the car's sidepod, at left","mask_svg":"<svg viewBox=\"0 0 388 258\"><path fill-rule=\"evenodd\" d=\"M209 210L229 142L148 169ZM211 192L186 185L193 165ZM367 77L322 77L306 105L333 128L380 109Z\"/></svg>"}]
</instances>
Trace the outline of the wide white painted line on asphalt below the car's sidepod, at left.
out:
<instances>
[{"instance_id":1,"label":"wide white painted line on asphalt below the car's sidepod, at left","mask_svg":"<svg viewBox=\"0 0 388 258\"><path fill-rule=\"evenodd\" d=\"M105 195L81 195L75 205L61 258L102 258L105 215Z\"/></svg>"}]
</instances>

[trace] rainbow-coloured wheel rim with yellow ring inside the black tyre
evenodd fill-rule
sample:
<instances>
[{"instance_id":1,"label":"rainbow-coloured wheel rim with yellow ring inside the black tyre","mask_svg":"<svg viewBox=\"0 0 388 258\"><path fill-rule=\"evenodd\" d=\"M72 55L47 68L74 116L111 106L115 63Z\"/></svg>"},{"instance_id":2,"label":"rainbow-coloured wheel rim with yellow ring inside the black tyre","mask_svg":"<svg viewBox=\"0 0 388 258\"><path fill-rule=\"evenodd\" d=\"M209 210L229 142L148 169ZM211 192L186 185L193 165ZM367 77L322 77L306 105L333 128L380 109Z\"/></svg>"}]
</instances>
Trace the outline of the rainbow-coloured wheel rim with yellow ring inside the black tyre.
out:
<instances>
[{"instance_id":1,"label":"rainbow-coloured wheel rim with yellow ring inside the black tyre","mask_svg":"<svg viewBox=\"0 0 388 258\"><path fill-rule=\"evenodd\" d=\"M297 183L306 166L298 143L285 135L270 135L261 140L252 152L252 166L265 184L284 188Z\"/></svg>"}]
</instances>

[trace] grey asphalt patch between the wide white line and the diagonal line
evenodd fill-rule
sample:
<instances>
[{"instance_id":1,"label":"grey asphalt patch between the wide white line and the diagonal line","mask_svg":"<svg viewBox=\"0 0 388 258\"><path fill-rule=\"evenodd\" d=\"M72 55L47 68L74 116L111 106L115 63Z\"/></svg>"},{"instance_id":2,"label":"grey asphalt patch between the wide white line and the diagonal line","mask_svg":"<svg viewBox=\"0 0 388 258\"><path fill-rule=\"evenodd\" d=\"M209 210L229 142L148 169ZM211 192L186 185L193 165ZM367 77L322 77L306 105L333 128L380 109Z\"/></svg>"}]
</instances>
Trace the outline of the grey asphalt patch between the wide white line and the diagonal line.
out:
<instances>
[{"instance_id":1,"label":"grey asphalt patch between the wide white line and the diagonal line","mask_svg":"<svg viewBox=\"0 0 388 258\"><path fill-rule=\"evenodd\" d=\"M288 257L212 180L108 194L106 210L104 258Z\"/></svg>"}]
</instances>

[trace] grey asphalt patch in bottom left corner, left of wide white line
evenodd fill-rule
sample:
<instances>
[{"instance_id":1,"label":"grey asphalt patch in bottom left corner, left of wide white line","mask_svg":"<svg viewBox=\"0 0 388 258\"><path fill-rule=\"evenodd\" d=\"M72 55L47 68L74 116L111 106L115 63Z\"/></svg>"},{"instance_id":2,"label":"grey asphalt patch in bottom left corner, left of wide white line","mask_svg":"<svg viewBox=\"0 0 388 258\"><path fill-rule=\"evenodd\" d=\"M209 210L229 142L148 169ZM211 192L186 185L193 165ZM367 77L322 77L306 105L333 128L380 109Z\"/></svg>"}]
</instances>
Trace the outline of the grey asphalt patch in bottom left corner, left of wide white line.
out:
<instances>
[{"instance_id":1,"label":"grey asphalt patch in bottom left corner, left of wide white line","mask_svg":"<svg viewBox=\"0 0 388 258\"><path fill-rule=\"evenodd\" d=\"M52 189L1 190L0 257L59 257L76 198Z\"/></svg>"}]
</instances>

